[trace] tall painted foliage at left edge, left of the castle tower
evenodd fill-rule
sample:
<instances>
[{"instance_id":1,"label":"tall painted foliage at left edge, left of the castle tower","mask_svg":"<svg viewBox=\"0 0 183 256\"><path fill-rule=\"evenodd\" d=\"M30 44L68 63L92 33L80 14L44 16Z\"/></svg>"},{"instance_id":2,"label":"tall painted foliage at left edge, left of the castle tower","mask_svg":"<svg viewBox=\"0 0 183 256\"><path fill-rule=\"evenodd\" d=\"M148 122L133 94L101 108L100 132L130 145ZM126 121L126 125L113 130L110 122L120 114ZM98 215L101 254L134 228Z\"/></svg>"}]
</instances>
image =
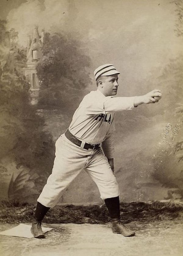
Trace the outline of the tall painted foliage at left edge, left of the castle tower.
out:
<instances>
[{"instance_id":1,"label":"tall painted foliage at left edge, left of the castle tower","mask_svg":"<svg viewBox=\"0 0 183 256\"><path fill-rule=\"evenodd\" d=\"M0 21L0 159L2 165L15 163L23 175L23 179L11 180L9 197L26 201L40 192L52 169L54 144L43 131L44 119L29 103L29 84L23 70L26 52L16 42L17 35Z\"/></svg>"}]
</instances>

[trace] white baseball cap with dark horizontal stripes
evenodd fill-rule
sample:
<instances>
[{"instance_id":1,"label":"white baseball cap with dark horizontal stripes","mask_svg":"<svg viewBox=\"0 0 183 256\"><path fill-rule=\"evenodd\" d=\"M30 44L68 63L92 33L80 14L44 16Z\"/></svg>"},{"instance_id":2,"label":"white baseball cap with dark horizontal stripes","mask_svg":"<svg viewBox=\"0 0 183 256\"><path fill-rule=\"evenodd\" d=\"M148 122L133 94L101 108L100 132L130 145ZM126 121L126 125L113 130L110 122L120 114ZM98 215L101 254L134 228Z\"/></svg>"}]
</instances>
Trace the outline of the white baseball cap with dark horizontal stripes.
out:
<instances>
[{"instance_id":1,"label":"white baseball cap with dark horizontal stripes","mask_svg":"<svg viewBox=\"0 0 183 256\"><path fill-rule=\"evenodd\" d=\"M99 66L94 71L94 76L96 81L100 76L115 75L115 74L120 74L120 72L116 70L113 64L105 64L105 65Z\"/></svg>"}]
</instances>

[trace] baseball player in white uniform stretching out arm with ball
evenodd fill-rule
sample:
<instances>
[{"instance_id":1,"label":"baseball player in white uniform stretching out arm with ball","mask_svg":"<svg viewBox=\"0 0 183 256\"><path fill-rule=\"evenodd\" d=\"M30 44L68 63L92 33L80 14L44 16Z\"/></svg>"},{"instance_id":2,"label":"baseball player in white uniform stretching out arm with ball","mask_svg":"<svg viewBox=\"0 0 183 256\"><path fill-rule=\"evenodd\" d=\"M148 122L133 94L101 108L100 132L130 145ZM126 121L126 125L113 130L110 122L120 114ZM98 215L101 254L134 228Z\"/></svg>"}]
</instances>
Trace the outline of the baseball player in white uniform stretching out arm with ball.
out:
<instances>
[{"instance_id":1,"label":"baseball player in white uniform stretching out arm with ball","mask_svg":"<svg viewBox=\"0 0 183 256\"><path fill-rule=\"evenodd\" d=\"M31 232L44 238L41 221L54 207L63 190L84 168L98 186L112 220L113 233L134 236L135 232L120 223L119 188L114 176L114 113L131 110L140 104L158 102L160 90L135 97L117 94L118 75L113 64L94 71L97 90L88 93L73 115L69 128L56 141L52 174L39 198Z\"/></svg>"}]
</instances>

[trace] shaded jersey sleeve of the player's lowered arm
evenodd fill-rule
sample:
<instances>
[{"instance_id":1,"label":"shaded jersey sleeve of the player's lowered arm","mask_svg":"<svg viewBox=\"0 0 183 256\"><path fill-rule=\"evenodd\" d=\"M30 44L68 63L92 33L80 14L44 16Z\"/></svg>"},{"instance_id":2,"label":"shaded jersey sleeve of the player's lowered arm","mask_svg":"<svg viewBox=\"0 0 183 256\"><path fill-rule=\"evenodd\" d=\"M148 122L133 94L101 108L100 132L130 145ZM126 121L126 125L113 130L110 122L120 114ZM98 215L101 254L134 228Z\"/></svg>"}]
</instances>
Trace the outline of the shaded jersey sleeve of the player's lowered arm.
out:
<instances>
[{"instance_id":1,"label":"shaded jersey sleeve of the player's lowered arm","mask_svg":"<svg viewBox=\"0 0 183 256\"><path fill-rule=\"evenodd\" d=\"M102 142L102 149L104 155L108 158L114 158L114 119L109 129L109 132L106 134L105 140Z\"/></svg>"}]
</instances>

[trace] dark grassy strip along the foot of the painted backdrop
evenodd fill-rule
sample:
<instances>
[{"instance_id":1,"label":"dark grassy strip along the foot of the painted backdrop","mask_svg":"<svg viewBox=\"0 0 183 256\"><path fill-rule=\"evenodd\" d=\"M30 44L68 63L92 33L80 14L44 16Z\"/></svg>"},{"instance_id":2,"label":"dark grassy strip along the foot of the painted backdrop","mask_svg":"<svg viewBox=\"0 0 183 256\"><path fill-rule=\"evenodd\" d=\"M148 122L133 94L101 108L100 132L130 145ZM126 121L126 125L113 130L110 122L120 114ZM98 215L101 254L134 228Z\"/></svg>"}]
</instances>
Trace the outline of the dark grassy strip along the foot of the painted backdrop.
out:
<instances>
[{"instance_id":1,"label":"dark grassy strip along the foot of the painted backdrop","mask_svg":"<svg viewBox=\"0 0 183 256\"><path fill-rule=\"evenodd\" d=\"M31 222L35 211L32 204L0 203L0 223ZM124 223L131 221L161 221L183 219L182 201L150 201L120 203L120 216ZM58 205L48 211L46 223L105 224L110 221L105 205Z\"/></svg>"}]
</instances>

